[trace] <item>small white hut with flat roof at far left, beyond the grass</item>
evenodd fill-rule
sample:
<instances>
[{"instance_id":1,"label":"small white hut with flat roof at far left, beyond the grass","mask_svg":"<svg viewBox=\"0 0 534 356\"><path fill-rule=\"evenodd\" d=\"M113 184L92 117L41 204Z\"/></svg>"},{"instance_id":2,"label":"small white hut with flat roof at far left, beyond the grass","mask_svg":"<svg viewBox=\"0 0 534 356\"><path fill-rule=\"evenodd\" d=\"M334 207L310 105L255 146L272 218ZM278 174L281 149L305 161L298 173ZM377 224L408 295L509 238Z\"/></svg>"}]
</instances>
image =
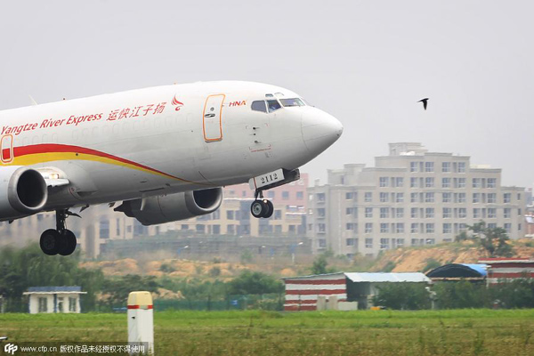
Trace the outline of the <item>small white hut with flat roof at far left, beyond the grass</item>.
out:
<instances>
[{"instance_id":1,"label":"small white hut with flat roof at far left, beyond the grass","mask_svg":"<svg viewBox=\"0 0 534 356\"><path fill-rule=\"evenodd\" d=\"M39 312L80 312L80 295L85 295L82 287L28 287L22 295L29 295L28 311Z\"/></svg>"}]
</instances>

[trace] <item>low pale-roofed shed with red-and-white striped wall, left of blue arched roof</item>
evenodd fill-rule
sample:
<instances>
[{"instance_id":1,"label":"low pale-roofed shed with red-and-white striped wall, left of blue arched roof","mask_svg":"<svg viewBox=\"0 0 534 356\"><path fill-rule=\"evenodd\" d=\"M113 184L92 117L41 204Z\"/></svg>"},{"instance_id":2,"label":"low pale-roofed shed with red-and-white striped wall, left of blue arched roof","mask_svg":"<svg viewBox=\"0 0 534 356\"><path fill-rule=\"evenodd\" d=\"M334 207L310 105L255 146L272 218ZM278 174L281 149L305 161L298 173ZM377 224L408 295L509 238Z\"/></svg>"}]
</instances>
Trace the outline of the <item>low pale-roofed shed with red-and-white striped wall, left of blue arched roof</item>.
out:
<instances>
[{"instance_id":1,"label":"low pale-roofed shed with red-and-white striped wall, left of blue arched roof","mask_svg":"<svg viewBox=\"0 0 534 356\"><path fill-rule=\"evenodd\" d=\"M337 272L283 280L286 285L285 311L368 309L372 306L372 297L378 294L378 287L384 284L431 282L419 272Z\"/></svg>"}]
</instances>

